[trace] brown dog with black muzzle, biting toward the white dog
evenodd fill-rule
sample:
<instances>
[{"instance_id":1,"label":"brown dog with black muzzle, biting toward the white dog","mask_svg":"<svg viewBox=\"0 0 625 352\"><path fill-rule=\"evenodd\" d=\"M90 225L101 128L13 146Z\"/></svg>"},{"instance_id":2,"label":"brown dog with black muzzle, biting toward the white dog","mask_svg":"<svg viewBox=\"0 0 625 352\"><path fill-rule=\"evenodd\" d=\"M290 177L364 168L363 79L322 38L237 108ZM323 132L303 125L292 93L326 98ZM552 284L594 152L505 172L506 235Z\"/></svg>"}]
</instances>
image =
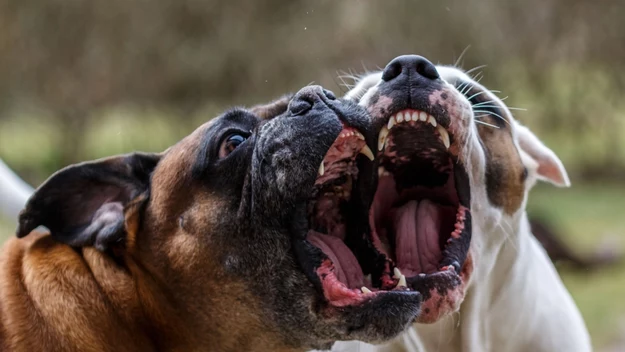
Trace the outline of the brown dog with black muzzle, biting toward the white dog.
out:
<instances>
[{"instance_id":1,"label":"brown dog with black muzzle, biting toward the white dog","mask_svg":"<svg viewBox=\"0 0 625 352\"><path fill-rule=\"evenodd\" d=\"M372 179L356 179L373 174L367 123L362 108L306 87L290 103L229 111L162 154L57 172L2 251L0 350L283 351L398 334L419 293L363 293L350 262L376 272L351 234L366 227L350 192ZM321 224L321 194L351 206Z\"/></svg>"}]
</instances>

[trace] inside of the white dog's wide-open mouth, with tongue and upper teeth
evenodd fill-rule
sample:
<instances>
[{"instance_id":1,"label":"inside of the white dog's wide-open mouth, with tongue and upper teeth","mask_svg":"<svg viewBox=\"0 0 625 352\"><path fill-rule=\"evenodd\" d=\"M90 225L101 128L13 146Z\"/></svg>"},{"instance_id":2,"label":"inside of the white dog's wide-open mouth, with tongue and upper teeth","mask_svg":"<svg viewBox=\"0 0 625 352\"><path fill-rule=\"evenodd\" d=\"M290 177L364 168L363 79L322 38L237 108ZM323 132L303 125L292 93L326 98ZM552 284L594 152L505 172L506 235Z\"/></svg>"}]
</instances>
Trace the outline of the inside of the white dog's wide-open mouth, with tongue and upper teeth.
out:
<instances>
[{"instance_id":1,"label":"inside of the white dog's wide-open mouth, with tongue and upper teeth","mask_svg":"<svg viewBox=\"0 0 625 352\"><path fill-rule=\"evenodd\" d=\"M378 187L369 213L373 243L408 282L440 271L460 273L466 253L457 255L450 244L465 230L469 183L449 149L453 136L431 115L391 119L380 134Z\"/></svg>"}]
</instances>

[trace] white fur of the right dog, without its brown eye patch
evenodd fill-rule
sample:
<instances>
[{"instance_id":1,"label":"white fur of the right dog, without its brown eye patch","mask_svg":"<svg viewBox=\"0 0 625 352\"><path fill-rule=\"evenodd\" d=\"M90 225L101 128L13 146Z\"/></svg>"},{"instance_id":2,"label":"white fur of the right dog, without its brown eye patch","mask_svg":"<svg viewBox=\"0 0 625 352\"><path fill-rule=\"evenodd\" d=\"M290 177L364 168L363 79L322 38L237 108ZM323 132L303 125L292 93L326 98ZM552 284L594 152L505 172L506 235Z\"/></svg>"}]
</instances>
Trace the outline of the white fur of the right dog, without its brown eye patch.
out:
<instances>
[{"instance_id":1,"label":"white fur of the right dog, without its brown eye patch","mask_svg":"<svg viewBox=\"0 0 625 352\"><path fill-rule=\"evenodd\" d=\"M441 77L471 80L452 67L438 67ZM379 74L378 76L379 77ZM351 96L367 97L365 78ZM475 83L477 84L477 83ZM490 92L489 98L505 105ZM350 93L348 93L350 96ZM473 126L474 127L474 126ZM459 312L434 324L415 324L384 346L338 342L333 351L591 351L590 337L569 292L543 247L531 234L525 212L527 193L536 180L568 186L560 160L527 128L512 123L521 159L528 168L525 200L512 216L491 205L484 183L481 148L471 148L471 253L475 269ZM477 138L473 133L472 138Z\"/></svg>"}]
</instances>

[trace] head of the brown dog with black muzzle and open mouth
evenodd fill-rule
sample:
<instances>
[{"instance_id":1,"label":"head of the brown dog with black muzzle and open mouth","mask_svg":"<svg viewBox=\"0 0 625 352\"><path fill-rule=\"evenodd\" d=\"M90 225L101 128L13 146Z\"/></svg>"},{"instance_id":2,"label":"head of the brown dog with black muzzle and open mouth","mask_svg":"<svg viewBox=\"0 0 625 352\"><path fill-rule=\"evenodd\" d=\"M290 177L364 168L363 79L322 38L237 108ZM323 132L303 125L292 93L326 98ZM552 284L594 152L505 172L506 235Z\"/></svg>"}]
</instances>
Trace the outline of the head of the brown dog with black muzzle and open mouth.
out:
<instances>
[{"instance_id":1,"label":"head of the brown dog with black muzzle and open mouth","mask_svg":"<svg viewBox=\"0 0 625 352\"><path fill-rule=\"evenodd\" d=\"M234 109L164 153L57 172L17 233L44 225L57 241L114 258L169 344L387 339L414 320L421 297L360 290L358 260L375 259L362 241L367 209L352 193L373 174L368 122L364 108L318 86Z\"/></svg>"}]
</instances>

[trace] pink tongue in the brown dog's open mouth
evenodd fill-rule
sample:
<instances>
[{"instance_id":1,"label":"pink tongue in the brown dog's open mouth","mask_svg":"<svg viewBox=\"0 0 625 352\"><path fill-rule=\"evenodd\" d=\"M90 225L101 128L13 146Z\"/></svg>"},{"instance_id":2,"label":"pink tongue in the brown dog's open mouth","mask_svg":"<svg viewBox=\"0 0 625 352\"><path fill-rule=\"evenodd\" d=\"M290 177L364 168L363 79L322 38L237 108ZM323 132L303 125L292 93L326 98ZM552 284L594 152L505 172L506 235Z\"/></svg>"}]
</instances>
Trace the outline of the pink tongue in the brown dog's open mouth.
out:
<instances>
[{"instance_id":1,"label":"pink tongue in the brown dog's open mouth","mask_svg":"<svg viewBox=\"0 0 625 352\"><path fill-rule=\"evenodd\" d=\"M321 249L334 264L335 275L349 288L364 286L364 277L358 260L352 251L338 237L308 231L308 242Z\"/></svg>"}]
</instances>

